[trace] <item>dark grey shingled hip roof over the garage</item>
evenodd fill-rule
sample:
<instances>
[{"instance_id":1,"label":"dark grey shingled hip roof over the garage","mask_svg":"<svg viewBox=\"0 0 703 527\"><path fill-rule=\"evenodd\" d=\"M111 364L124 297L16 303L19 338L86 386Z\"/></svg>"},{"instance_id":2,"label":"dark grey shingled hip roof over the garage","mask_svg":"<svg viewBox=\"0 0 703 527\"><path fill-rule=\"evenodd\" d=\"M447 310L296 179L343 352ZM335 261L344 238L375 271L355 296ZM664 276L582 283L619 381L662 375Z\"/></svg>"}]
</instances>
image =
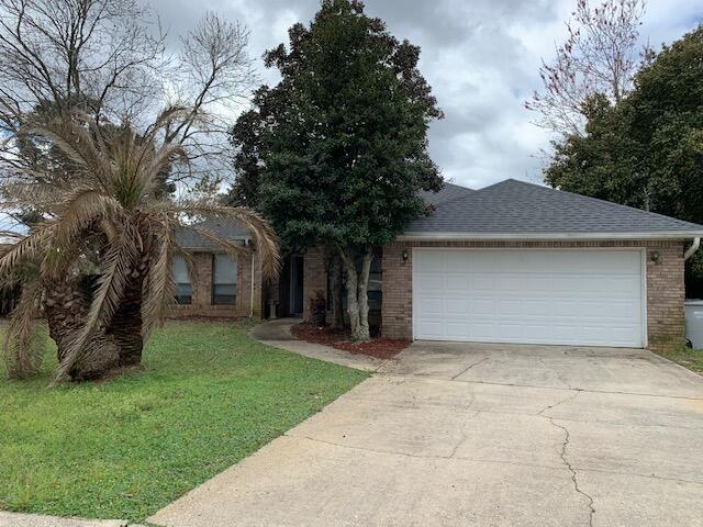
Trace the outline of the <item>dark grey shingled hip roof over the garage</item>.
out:
<instances>
[{"instance_id":1,"label":"dark grey shingled hip roof over the garage","mask_svg":"<svg viewBox=\"0 0 703 527\"><path fill-rule=\"evenodd\" d=\"M414 221L403 236L432 238L444 234L449 238L490 238L512 235L534 239L594 234L612 237L703 235L703 225L515 179L461 193L435 206L426 217Z\"/></svg>"}]
</instances>

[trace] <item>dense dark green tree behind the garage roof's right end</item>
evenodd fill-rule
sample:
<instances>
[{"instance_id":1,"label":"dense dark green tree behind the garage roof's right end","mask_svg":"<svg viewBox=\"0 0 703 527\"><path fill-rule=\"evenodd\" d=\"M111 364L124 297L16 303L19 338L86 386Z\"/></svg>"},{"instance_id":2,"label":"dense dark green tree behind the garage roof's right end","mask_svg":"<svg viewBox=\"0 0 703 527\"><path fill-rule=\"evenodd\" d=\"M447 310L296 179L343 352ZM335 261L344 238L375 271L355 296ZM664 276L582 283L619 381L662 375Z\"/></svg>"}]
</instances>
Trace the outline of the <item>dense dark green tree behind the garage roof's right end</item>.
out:
<instances>
[{"instance_id":1,"label":"dense dark green tree behind the garage roof's right end","mask_svg":"<svg viewBox=\"0 0 703 527\"><path fill-rule=\"evenodd\" d=\"M548 184L703 223L703 26L665 46L615 104L594 96L585 134L555 144ZM703 292L703 258L689 261ZM699 285L695 285L695 284Z\"/></svg>"}]
</instances>

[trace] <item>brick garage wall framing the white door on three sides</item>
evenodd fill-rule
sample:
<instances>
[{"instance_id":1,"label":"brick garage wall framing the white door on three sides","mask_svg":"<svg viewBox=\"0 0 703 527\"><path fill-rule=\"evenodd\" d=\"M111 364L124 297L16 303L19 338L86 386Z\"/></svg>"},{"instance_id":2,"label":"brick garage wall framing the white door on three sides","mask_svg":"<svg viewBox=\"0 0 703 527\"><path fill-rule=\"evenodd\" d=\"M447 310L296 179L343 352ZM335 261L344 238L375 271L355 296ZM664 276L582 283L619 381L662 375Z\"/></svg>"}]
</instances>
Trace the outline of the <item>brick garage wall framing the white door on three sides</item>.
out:
<instances>
[{"instance_id":1,"label":"brick garage wall framing the white door on three sides","mask_svg":"<svg viewBox=\"0 0 703 527\"><path fill-rule=\"evenodd\" d=\"M392 338L412 338L412 248L647 248L647 332L648 347L662 349L683 343L683 242L395 242L383 248L382 334ZM408 261L402 251L408 249ZM652 261L657 251L660 262Z\"/></svg>"}]
</instances>

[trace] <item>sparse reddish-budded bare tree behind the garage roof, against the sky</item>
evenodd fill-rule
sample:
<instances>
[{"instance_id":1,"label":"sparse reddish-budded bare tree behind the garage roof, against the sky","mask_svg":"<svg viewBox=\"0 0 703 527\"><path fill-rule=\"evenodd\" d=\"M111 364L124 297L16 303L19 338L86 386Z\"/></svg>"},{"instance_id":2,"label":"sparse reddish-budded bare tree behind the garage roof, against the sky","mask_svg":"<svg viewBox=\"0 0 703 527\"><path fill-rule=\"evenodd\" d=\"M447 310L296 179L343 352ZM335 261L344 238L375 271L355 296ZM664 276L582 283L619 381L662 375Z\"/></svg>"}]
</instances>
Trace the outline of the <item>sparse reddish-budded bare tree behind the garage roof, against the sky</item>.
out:
<instances>
[{"instance_id":1,"label":"sparse reddish-budded bare tree behind the garage roof, against the sky","mask_svg":"<svg viewBox=\"0 0 703 527\"><path fill-rule=\"evenodd\" d=\"M553 63L539 68L544 89L535 91L528 110L536 124L558 134L583 132L584 101L595 93L612 102L632 88L643 54L637 51L645 0L605 0L593 7L578 0L567 22L568 37L556 48Z\"/></svg>"}]
</instances>

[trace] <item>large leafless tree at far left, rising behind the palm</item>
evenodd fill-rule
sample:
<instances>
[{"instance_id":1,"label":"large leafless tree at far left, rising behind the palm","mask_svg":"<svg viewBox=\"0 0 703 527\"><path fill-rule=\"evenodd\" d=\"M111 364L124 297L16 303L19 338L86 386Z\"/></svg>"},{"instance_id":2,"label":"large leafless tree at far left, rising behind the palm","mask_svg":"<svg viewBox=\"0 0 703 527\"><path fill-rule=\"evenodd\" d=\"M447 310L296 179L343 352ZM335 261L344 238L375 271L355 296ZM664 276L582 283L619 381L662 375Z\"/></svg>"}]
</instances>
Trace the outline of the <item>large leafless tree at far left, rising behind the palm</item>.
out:
<instances>
[{"instance_id":1,"label":"large leafless tree at far left, rising behind the palm","mask_svg":"<svg viewBox=\"0 0 703 527\"><path fill-rule=\"evenodd\" d=\"M127 116L155 102L164 35L137 0L0 0L0 123L37 110Z\"/></svg>"}]
</instances>

